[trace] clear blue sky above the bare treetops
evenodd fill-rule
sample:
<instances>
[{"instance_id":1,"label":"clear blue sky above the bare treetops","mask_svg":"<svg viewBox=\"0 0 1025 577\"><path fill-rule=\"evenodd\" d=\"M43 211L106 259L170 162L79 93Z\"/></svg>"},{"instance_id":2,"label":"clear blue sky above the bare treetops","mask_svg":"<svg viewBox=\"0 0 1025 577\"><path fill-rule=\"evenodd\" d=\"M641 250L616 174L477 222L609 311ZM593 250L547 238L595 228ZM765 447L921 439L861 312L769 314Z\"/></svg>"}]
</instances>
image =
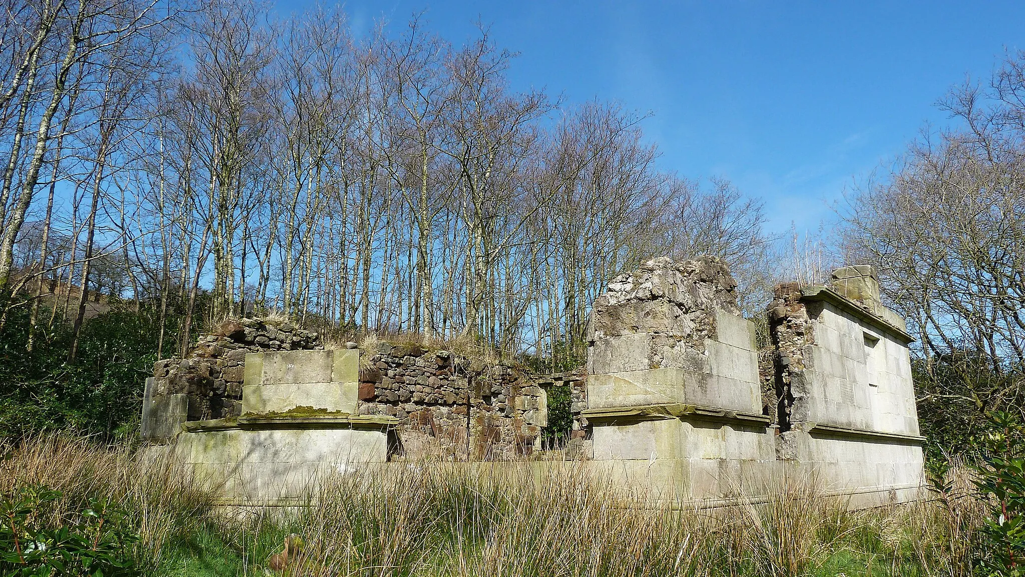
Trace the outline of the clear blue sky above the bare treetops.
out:
<instances>
[{"instance_id":1,"label":"clear blue sky above the bare treetops","mask_svg":"<svg viewBox=\"0 0 1025 577\"><path fill-rule=\"evenodd\" d=\"M314 1L278 0L282 13ZM765 199L770 226L814 230L845 186L899 154L951 85L1025 48L1025 3L468 2L351 0L359 34L425 10L454 43L480 18L519 52L515 88L640 113L659 165L725 176Z\"/></svg>"}]
</instances>

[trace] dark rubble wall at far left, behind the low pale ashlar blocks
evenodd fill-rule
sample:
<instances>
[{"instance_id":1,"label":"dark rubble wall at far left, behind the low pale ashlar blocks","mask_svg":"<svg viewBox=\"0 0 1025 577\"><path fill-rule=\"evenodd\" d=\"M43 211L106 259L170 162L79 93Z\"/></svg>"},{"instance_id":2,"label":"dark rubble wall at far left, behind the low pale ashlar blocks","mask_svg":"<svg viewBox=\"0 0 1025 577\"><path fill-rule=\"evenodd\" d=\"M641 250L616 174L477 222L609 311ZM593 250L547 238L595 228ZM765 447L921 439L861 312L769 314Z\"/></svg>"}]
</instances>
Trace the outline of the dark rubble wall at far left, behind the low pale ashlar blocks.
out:
<instances>
[{"instance_id":1,"label":"dark rubble wall at far left, behind the low pale ashlar blocks","mask_svg":"<svg viewBox=\"0 0 1025 577\"><path fill-rule=\"evenodd\" d=\"M188 396L190 421L236 417L242 412L242 381L247 353L324 348L317 333L285 322L230 320L200 337L184 359L153 365L148 398Z\"/></svg>"}]
</instances>

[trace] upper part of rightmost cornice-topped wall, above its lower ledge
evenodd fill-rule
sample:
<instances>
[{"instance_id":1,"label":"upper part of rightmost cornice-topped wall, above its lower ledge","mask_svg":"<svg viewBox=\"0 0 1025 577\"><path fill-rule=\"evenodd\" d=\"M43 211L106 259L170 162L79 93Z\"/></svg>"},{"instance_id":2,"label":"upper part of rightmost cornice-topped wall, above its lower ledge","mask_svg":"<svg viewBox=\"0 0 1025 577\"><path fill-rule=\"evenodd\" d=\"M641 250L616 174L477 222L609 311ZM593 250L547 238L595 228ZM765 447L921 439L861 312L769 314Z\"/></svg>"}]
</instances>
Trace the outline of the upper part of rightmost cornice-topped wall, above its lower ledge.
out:
<instances>
[{"instance_id":1,"label":"upper part of rightmost cornice-topped wall, above its lower ledge","mask_svg":"<svg viewBox=\"0 0 1025 577\"><path fill-rule=\"evenodd\" d=\"M879 301L869 265L828 286L782 284L769 306L782 432L828 423L917 435L903 321Z\"/></svg>"}]
</instances>

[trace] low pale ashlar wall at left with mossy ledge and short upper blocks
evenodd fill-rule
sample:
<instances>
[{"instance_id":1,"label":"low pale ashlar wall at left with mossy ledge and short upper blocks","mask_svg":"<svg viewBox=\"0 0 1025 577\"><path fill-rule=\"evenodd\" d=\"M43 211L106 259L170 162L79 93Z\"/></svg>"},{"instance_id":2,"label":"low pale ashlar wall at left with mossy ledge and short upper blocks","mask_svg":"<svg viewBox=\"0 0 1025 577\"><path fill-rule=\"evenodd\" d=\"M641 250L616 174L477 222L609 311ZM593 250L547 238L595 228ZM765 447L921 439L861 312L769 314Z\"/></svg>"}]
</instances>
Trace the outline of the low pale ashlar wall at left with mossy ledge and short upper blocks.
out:
<instances>
[{"instance_id":1,"label":"low pale ashlar wall at left with mossy ledge and short upper blocks","mask_svg":"<svg viewBox=\"0 0 1025 577\"><path fill-rule=\"evenodd\" d=\"M250 353L242 414L189 421L170 448L224 504L301 504L319 484L388 458L398 419L356 413L358 351Z\"/></svg>"}]
</instances>

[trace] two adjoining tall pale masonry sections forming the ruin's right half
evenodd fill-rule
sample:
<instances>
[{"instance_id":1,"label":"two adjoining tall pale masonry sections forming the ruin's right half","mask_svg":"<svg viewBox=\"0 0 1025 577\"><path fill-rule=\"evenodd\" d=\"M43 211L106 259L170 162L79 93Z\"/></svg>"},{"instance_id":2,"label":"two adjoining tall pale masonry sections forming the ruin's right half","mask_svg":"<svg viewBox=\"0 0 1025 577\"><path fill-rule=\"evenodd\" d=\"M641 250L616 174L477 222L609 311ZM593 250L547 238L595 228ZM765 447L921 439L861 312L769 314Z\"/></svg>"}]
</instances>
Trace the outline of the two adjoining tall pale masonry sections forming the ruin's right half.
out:
<instances>
[{"instance_id":1,"label":"two adjoining tall pale masonry sections forming the ruin's right half","mask_svg":"<svg viewBox=\"0 0 1025 577\"><path fill-rule=\"evenodd\" d=\"M785 475L852 506L915 498L911 337L879 303L872 267L777 287L761 355L735 286L715 258L657 259L596 301L582 414L596 466L674 501Z\"/></svg>"}]
</instances>

